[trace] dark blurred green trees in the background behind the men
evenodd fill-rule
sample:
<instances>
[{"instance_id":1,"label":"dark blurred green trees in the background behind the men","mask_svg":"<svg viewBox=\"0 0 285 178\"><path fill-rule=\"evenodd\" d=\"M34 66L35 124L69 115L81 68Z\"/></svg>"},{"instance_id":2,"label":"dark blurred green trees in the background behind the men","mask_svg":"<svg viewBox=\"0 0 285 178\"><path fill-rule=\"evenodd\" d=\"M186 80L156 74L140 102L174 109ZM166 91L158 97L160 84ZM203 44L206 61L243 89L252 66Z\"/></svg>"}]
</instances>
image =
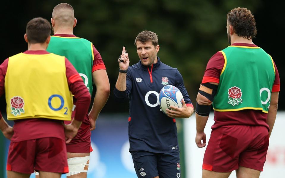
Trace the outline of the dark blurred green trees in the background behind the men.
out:
<instances>
[{"instance_id":1,"label":"dark blurred green trees in the background behind the men","mask_svg":"<svg viewBox=\"0 0 285 178\"><path fill-rule=\"evenodd\" d=\"M75 10L77 25L74 34L93 42L105 62L111 84L111 95L102 113L128 112L128 102L114 103L113 89L118 75L117 57L126 47L130 65L138 62L134 40L142 30L158 34L163 63L178 68L186 89L196 104L196 94L207 62L228 44L226 14L235 7L247 7L256 18L257 36L253 42L269 53L275 61L284 84L282 32L284 10L280 3L265 0L84 0L84 1L5 1L2 3L1 62L9 56L26 51L23 39L26 24L35 17L50 21L53 7L69 3ZM248 76L250 77L250 76ZM279 110L285 109L279 95ZM4 97L1 110L5 111Z\"/></svg>"}]
</instances>

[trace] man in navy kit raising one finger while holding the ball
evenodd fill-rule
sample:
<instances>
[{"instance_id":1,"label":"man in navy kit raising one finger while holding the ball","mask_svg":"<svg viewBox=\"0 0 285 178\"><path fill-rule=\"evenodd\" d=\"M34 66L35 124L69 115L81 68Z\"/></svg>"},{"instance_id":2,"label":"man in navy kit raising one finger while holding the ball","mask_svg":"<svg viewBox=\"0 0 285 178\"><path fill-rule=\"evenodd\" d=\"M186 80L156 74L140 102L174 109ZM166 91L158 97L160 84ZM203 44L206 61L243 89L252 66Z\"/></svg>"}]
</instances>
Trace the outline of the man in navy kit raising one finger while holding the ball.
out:
<instances>
[{"instance_id":1,"label":"man in navy kit raising one finger while holding the ball","mask_svg":"<svg viewBox=\"0 0 285 178\"><path fill-rule=\"evenodd\" d=\"M190 117L193 105L177 68L163 64L157 57L157 35L142 31L135 45L140 61L129 67L129 57L123 47L114 94L118 101L129 98L129 151L136 174L145 178L181 177L174 118ZM165 85L176 86L184 98L183 107L171 106L173 110L167 110L167 116L160 111L158 101Z\"/></svg>"}]
</instances>

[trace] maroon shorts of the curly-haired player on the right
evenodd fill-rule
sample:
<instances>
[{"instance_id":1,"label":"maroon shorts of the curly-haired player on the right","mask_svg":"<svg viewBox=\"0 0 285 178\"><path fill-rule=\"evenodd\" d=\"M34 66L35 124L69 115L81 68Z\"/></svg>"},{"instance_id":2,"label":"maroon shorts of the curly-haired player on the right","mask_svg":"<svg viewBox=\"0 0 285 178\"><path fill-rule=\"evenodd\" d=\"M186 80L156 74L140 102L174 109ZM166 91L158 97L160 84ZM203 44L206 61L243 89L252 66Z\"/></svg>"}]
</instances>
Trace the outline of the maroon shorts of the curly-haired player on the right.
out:
<instances>
[{"instance_id":1,"label":"maroon shorts of the curly-haired player on the right","mask_svg":"<svg viewBox=\"0 0 285 178\"><path fill-rule=\"evenodd\" d=\"M263 171L268 144L268 130L264 126L219 127L212 130L202 169L231 172L243 166Z\"/></svg>"}]
</instances>

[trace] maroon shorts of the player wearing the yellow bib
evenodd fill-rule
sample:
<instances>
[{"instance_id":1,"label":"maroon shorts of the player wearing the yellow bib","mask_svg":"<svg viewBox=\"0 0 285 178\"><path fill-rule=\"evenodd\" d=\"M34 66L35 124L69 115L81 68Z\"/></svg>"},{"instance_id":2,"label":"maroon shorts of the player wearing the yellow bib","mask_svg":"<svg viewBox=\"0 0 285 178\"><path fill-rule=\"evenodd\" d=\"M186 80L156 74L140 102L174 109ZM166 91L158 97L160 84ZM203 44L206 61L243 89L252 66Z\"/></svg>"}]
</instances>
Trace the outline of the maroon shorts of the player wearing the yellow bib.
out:
<instances>
[{"instance_id":1,"label":"maroon shorts of the player wearing the yellow bib","mask_svg":"<svg viewBox=\"0 0 285 178\"><path fill-rule=\"evenodd\" d=\"M33 173L34 170L67 173L65 141L55 137L11 141L7 170L25 174Z\"/></svg>"}]
</instances>

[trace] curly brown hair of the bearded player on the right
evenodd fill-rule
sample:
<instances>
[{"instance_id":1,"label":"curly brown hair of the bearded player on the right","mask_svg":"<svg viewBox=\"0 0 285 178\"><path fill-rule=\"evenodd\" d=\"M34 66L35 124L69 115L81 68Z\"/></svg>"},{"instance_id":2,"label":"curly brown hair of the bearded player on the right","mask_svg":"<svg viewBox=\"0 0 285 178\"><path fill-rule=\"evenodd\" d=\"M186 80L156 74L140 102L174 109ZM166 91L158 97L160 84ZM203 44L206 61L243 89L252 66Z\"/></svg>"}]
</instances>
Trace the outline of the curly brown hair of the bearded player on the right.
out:
<instances>
[{"instance_id":1,"label":"curly brown hair of the bearded player on the right","mask_svg":"<svg viewBox=\"0 0 285 178\"><path fill-rule=\"evenodd\" d=\"M234 28L234 33L248 40L256 36L256 23L251 11L247 8L237 7L229 11L227 20Z\"/></svg>"}]
</instances>

